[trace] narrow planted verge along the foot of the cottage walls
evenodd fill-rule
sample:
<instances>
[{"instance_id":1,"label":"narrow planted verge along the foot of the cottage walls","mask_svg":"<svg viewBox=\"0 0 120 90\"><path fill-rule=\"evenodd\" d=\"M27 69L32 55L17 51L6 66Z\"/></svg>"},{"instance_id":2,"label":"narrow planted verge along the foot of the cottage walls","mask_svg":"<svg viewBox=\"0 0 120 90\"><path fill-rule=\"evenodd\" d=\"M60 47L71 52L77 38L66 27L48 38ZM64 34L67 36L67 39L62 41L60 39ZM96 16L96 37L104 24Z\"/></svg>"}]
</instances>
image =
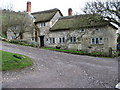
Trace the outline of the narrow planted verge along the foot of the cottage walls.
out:
<instances>
[{"instance_id":1,"label":"narrow planted verge along the foot of the cottage walls","mask_svg":"<svg viewBox=\"0 0 120 90\"><path fill-rule=\"evenodd\" d=\"M38 43L36 43L36 42L32 43L32 44L26 44L24 41L16 41L16 40L11 40L8 43L18 44L18 45L23 45L23 46L37 47L37 48L39 46ZM71 54L77 54L77 55L88 55L88 56L94 56L94 57L115 58L115 57L120 56L120 51L118 51L118 52L114 53L112 56L110 56L108 53L97 52L97 51L93 51L92 53L89 53L87 51L63 50L63 49L48 48L48 47L44 47L43 49L71 53Z\"/></svg>"}]
</instances>

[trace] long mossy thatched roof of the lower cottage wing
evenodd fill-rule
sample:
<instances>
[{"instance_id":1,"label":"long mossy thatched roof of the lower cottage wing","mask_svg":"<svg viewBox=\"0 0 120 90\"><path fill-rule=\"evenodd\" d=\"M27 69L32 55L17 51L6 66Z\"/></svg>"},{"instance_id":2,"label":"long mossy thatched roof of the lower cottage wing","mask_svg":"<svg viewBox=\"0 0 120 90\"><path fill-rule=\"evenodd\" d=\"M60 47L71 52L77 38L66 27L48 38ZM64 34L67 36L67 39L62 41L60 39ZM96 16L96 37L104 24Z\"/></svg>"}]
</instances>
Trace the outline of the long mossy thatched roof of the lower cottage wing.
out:
<instances>
[{"instance_id":1,"label":"long mossy thatched roof of the lower cottage wing","mask_svg":"<svg viewBox=\"0 0 120 90\"><path fill-rule=\"evenodd\" d=\"M108 21L99 15L82 14L61 17L56 24L50 28L50 31L102 27L109 24Z\"/></svg>"}]
</instances>

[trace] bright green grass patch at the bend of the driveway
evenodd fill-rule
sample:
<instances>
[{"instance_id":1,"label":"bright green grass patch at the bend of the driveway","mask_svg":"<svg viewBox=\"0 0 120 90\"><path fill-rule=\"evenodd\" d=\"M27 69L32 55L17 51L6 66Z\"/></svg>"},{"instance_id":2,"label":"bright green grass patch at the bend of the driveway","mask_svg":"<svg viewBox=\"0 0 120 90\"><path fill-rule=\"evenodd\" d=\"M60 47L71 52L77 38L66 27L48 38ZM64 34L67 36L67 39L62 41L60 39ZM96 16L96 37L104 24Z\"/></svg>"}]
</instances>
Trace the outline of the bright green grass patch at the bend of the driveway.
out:
<instances>
[{"instance_id":1,"label":"bright green grass patch at the bend of the driveway","mask_svg":"<svg viewBox=\"0 0 120 90\"><path fill-rule=\"evenodd\" d=\"M0 50L0 62L2 65L0 66L0 70L15 70L15 69L22 69L27 66L31 66L32 60L24 55L1 51Z\"/></svg>"}]
</instances>

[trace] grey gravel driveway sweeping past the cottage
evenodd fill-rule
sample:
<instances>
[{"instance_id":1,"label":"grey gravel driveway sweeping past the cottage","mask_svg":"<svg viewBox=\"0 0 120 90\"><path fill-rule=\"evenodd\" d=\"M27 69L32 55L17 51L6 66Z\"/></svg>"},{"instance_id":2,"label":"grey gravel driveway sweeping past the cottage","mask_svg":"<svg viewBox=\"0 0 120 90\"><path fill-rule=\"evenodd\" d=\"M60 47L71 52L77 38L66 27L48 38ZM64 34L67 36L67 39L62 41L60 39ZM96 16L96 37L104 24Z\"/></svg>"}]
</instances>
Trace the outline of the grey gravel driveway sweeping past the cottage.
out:
<instances>
[{"instance_id":1,"label":"grey gravel driveway sweeping past the cottage","mask_svg":"<svg viewBox=\"0 0 120 90\"><path fill-rule=\"evenodd\" d=\"M118 60L2 43L2 50L23 54L34 65L3 71L3 88L114 88Z\"/></svg>"}]
</instances>

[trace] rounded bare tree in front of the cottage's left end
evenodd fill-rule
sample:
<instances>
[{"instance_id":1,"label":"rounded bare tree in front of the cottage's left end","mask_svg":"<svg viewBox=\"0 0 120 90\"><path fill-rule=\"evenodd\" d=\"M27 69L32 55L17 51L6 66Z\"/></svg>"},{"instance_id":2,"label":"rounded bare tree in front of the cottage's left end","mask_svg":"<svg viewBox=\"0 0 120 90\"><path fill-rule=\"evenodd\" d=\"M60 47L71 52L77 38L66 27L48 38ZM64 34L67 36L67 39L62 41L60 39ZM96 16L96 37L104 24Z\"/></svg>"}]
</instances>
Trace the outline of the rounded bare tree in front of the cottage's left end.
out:
<instances>
[{"instance_id":1,"label":"rounded bare tree in front of the cottage's left end","mask_svg":"<svg viewBox=\"0 0 120 90\"><path fill-rule=\"evenodd\" d=\"M20 38L23 39L23 34L29 32L33 33L35 25L33 23L32 17L27 13L19 13L11 17L9 23L9 30L13 32L15 39Z\"/></svg>"}]
</instances>

